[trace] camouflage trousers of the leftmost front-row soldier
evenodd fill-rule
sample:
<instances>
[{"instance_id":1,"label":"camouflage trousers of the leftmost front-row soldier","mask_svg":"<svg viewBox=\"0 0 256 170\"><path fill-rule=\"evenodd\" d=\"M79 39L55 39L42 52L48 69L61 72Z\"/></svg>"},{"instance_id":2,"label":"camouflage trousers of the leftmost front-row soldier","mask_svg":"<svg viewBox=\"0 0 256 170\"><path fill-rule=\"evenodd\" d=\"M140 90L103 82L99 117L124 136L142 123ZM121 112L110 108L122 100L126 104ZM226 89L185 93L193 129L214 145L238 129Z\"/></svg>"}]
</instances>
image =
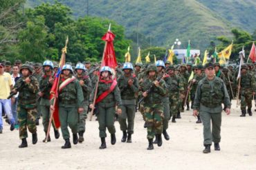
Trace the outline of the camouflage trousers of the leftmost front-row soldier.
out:
<instances>
[{"instance_id":1,"label":"camouflage trousers of the leftmost front-row soldier","mask_svg":"<svg viewBox=\"0 0 256 170\"><path fill-rule=\"evenodd\" d=\"M19 120L19 138L28 138L28 131L34 134L37 132L37 127L35 125L35 119L37 116L37 109L33 106L25 107L23 105L18 105L17 108L18 120Z\"/></svg>"}]
</instances>

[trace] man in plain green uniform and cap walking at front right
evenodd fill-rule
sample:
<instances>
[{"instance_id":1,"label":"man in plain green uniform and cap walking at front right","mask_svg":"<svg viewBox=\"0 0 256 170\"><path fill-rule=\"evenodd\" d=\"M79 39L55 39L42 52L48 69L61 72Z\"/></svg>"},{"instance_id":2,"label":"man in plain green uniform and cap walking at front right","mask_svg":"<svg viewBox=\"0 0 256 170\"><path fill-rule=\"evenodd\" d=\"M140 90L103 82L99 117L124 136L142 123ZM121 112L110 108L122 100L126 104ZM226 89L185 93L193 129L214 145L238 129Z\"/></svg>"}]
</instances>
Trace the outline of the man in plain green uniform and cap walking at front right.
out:
<instances>
[{"instance_id":1,"label":"man in plain green uniform and cap walking at front right","mask_svg":"<svg viewBox=\"0 0 256 170\"><path fill-rule=\"evenodd\" d=\"M198 116L200 112L203 121L203 153L210 153L210 146L214 142L214 150L219 151L221 141L221 103L230 114L230 99L225 83L221 78L214 76L214 65L205 64L206 77L199 81L194 98L193 115ZM211 131L212 120L212 131Z\"/></svg>"}]
</instances>

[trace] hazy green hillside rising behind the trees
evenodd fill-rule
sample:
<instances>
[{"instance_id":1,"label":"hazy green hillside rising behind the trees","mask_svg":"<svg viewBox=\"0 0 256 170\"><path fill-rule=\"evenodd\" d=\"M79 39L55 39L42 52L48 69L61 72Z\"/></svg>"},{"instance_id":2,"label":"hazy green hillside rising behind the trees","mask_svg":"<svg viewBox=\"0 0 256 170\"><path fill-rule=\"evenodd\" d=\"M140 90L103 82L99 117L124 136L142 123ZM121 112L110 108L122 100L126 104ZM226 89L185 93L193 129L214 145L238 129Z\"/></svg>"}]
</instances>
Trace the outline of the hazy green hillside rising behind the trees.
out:
<instances>
[{"instance_id":1,"label":"hazy green hillside rising behind the trees","mask_svg":"<svg viewBox=\"0 0 256 170\"><path fill-rule=\"evenodd\" d=\"M27 7L53 0L28 0ZM248 3L245 3L248 2ZM71 7L75 17L87 13L85 0L61 0ZM107 17L125 26L127 36L144 34L151 37L152 45L167 47L175 39L181 40L181 47L191 42L192 48L203 48L216 40L216 36L232 36L230 29L240 27L253 32L256 22L249 15L256 3L244 0L232 3L230 0L89 0L89 15ZM246 9L244 13L242 10ZM246 14L246 16L244 16ZM139 39L140 45L140 39Z\"/></svg>"}]
</instances>

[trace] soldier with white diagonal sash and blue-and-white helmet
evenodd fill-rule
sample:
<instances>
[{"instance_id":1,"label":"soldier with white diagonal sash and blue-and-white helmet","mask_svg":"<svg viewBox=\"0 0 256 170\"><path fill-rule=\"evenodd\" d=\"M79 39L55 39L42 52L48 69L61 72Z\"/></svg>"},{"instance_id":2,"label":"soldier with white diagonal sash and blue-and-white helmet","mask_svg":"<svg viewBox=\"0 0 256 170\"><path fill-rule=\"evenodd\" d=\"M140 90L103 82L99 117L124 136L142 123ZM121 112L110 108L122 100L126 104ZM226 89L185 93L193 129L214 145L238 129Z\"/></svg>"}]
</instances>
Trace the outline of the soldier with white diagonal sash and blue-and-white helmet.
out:
<instances>
[{"instance_id":1,"label":"soldier with white diagonal sash and blue-and-white helmet","mask_svg":"<svg viewBox=\"0 0 256 170\"><path fill-rule=\"evenodd\" d=\"M59 117L62 129L62 137L65 140L62 149L71 148L69 140L70 135L68 126L71 128L73 134L73 144L78 142L77 127L79 115L84 111L82 87L77 79L72 76L73 69L71 65L66 64L62 67L62 76L59 83ZM51 109L53 110L53 100L51 100Z\"/></svg>"}]
</instances>

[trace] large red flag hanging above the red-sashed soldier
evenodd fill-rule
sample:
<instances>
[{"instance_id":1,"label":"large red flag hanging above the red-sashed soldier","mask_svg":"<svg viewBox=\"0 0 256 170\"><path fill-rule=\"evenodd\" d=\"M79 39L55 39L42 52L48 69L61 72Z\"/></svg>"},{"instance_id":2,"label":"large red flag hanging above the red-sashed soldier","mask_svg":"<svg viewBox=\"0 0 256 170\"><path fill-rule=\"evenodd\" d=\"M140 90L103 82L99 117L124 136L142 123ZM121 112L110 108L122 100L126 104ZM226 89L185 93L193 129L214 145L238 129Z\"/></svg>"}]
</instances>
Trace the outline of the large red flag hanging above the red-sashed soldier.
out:
<instances>
[{"instance_id":1,"label":"large red flag hanging above the red-sashed soldier","mask_svg":"<svg viewBox=\"0 0 256 170\"><path fill-rule=\"evenodd\" d=\"M115 50L113 49L113 40L115 39L115 35L109 30L102 37L103 41L106 41L106 46L104 49L104 56L102 60L102 66L109 66L113 69L116 69L118 63L116 62Z\"/></svg>"}]
</instances>

